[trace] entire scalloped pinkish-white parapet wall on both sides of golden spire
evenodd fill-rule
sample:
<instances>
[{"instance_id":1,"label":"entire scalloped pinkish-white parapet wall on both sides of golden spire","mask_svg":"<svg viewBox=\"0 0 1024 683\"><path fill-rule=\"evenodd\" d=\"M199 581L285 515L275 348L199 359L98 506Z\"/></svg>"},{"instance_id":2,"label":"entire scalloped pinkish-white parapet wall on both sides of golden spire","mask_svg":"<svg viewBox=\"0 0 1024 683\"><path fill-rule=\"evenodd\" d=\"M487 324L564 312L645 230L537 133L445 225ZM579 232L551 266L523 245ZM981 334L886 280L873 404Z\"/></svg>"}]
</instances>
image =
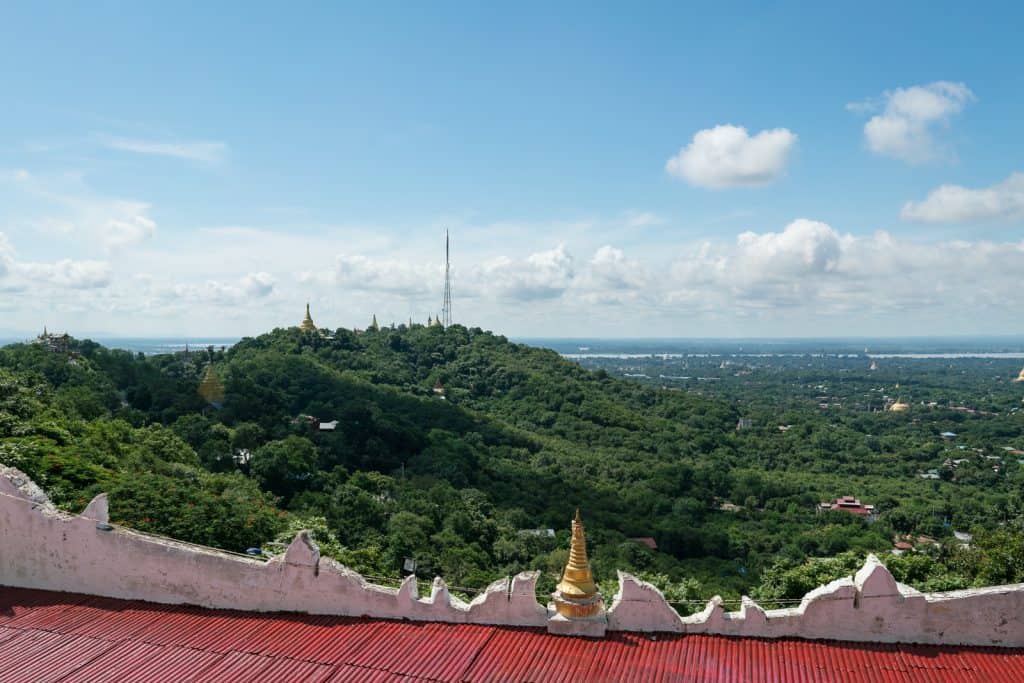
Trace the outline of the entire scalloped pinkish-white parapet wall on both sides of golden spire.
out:
<instances>
[{"instance_id":1,"label":"entire scalloped pinkish-white parapet wall on both sides of golden spire","mask_svg":"<svg viewBox=\"0 0 1024 683\"><path fill-rule=\"evenodd\" d=\"M435 579L423 597L413 579L399 588L377 586L321 557L305 531L283 555L264 562L112 526L105 495L81 515L66 514L25 474L0 466L0 587L253 611L547 626L594 635L564 624L551 628L553 610L536 597L539 575L495 582L469 603ZM607 630L1022 647L1022 584L923 594L897 583L872 555L855 575L811 591L799 606L765 610L743 598L740 610L729 612L716 596L686 617L655 587L620 572Z\"/></svg>"}]
</instances>

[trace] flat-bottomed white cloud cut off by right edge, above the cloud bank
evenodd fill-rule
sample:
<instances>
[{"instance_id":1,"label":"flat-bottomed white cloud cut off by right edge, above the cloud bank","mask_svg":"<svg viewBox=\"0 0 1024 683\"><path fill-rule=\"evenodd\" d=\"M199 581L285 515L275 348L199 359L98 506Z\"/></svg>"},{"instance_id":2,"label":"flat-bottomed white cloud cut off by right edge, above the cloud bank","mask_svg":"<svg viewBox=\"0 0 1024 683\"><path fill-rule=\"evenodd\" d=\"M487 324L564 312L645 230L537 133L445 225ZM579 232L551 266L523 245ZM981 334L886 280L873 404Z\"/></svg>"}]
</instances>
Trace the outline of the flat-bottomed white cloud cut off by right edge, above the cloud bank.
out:
<instances>
[{"instance_id":1,"label":"flat-bottomed white cloud cut off by right edge, above the cloud bank","mask_svg":"<svg viewBox=\"0 0 1024 683\"><path fill-rule=\"evenodd\" d=\"M926 223L963 223L1024 216L1024 173L990 187L940 185L921 202L903 205L900 217Z\"/></svg>"}]
</instances>

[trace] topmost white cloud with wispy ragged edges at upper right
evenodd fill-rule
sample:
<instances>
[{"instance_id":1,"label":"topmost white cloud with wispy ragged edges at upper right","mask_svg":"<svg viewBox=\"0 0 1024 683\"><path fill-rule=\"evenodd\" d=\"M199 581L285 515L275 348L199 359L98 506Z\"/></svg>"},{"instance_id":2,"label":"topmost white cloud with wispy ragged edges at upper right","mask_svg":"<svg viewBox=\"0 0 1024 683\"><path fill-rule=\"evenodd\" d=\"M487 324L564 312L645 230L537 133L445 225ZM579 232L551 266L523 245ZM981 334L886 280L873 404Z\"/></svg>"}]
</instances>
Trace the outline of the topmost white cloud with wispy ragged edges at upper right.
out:
<instances>
[{"instance_id":1,"label":"topmost white cloud with wispy ragged edges at upper right","mask_svg":"<svg viewBox=\"0 0 1024 683\"><path fill-rule=\"evenodd\" d=\"M856 112L882 109L864 124L864 138L877 154L911 164L945 156L935 140L934 129L976 99L963 83L936 81L928 85L897 88L883 94L882 101L847 104Z\"/></svg>"}]
</instances>

